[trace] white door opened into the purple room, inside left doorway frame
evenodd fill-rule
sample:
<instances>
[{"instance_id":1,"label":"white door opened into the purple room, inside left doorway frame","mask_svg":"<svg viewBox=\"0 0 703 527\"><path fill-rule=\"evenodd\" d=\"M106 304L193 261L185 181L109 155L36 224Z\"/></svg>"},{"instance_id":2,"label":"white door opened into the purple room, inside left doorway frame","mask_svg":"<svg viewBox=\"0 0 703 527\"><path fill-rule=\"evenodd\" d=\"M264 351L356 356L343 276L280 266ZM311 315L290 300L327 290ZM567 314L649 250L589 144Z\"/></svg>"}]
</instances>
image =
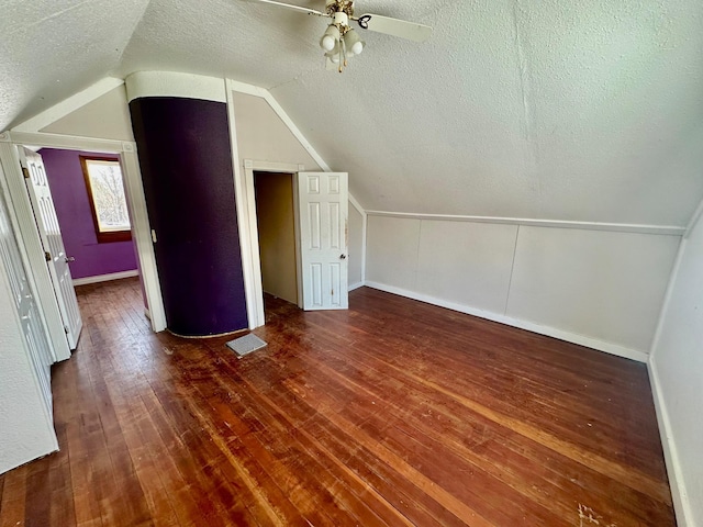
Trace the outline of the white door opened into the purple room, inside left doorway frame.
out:
<instances>
[{"instance_id":1,"label":"white door opened into the purple room, inside left doorway frame","mask_svg":"<svg viewBox=\"0 0 703 527\"><path fill-rule=\"evenodd\" d=\"M58 309L64 321L68 346L70 349L76 349L83 322L80 318L76 291L74 290L74 282L68 268L68 262L72 261L72 258L66 255L66 249L64 248L64 239L58 226L58 218L56 217L54 200L46 179L42 156L26 148L20 148L20 161L24 169L25 183L32 201L42 246L46 255L52 285L54 287Z\"/></svg>"}]
</instances>

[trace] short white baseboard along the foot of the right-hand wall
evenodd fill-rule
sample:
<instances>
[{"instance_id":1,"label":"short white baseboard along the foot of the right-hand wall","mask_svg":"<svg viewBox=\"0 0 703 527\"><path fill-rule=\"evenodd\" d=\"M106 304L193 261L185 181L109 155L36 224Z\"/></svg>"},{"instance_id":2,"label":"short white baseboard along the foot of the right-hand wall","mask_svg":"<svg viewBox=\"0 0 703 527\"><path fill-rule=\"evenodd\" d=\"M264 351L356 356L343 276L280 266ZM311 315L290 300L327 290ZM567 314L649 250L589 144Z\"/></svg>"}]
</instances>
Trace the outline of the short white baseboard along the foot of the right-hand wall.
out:
<instances>
[{"instance_id":1,"label":"short white baseboard along the foot of the right-hand wall","mask_svg":"<svg viewBox=\"0 0 703 527\"><path fill-rule=\"evenodd\" d=\"M685 490L683 474L681 473L681 461L673 441L671 431L671 421L667 404L661 393L659 383L659 374L654 357L647 362L649 371L649 383L651 384L651 395L655 400L655 410L657 411L657 423L659 424L659 435L661 436L661 447L663 448L663 460L667 464L667 474L669 475L669 487L671 489L671 498L673 501L673 509L677 514L677 524L679 527L693 527L693 512L689 494Z\"/></svg>"}]
</instances>

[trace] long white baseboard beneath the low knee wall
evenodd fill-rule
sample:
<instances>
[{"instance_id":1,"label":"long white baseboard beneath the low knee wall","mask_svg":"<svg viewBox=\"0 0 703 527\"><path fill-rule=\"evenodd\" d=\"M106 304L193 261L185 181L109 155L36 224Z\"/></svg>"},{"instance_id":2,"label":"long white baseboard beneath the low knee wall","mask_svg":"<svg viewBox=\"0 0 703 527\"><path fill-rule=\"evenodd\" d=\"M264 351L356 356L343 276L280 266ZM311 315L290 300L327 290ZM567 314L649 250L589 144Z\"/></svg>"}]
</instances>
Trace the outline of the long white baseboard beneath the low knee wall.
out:
<instances>
[{"instance_id":1,"label":"long white baseboard beneath the low knee wall","mask_svg":"<svg viewBox=\"0 0 703 527\"><path fill-rule=\"evenodd\" d=\"M636 360L637 362L647 363L649 359L649 355L644 351L626 348L617 344L606 343L592 337L587 337L584 335L565 332L562 329L557 329L556 327L540 326L539 324L535 324L533 322L522 321L518 318L513 318L513 317L501 315L498 313L492 313L490 311L479 310L477 307L471 307L470 305L457 304L455 302L447 302L446 300L437 299L437 298L429 296L422 293L416 293L414 291L409 291L401 288L395 288L393 285L386 285L383 283L378 283L369 280L365 282L365 285L369 288L378 289L380 291L386 291L387 293L399 294L401 296L405 296L409 299L419 300L420 302L426 302L428 304L438 305L439 307L446 307L448 310L458 311L459 313L466 313L467 315L473 315L480 318L486 318L487 321L498 322L500 324L517 327L520 329L526 329L528 332L537 333L539 335L545 335L547 337L558 338L559 340L566 340L567 343L578 344L579 346L585 346L588 348L596 349L599 351L614 355L616 357L623 357L625 359Z\"/></svg>"}]
</instances>

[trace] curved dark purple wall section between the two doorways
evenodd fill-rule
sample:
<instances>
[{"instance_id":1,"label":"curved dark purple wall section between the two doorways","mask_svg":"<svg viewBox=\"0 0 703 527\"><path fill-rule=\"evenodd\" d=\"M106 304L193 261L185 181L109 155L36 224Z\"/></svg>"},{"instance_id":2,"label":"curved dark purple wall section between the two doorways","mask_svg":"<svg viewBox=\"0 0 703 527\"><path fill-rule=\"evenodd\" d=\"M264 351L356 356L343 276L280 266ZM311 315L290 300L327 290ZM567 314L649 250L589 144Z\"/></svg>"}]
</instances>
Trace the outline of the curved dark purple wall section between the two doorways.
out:
<instances>
[{"instance_id":1,"label":"curved dark purple wall section between the two doorways","mask_svg":"<svg viewBox=\"0 0 703 527\"><path fill-rule=\"evenodd\" d=\"M130 112L168 328L248 327L226 104L143 98Z\"/></svg>"}]
</instances>

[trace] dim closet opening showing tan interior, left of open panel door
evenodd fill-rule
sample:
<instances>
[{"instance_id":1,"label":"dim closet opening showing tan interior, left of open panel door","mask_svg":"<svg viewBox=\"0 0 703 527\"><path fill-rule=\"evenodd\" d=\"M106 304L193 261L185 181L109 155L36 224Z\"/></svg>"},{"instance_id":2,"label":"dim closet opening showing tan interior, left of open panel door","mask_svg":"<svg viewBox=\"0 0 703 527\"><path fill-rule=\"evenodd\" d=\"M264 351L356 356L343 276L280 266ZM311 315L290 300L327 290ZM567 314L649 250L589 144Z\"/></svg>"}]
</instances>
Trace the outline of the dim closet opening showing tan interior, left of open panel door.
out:
<instances>
[{"instance_id":1,"label":"dim closet opening showing tan interior, left of open panel door","mask_svg":"<svg viewBox=\"0 0 703 527\"><path fill-rule=\"evenodd\" d=\"M264 295L299 306L293 173L255 171L254 189Z\"/></svg>"}]
</instances>

